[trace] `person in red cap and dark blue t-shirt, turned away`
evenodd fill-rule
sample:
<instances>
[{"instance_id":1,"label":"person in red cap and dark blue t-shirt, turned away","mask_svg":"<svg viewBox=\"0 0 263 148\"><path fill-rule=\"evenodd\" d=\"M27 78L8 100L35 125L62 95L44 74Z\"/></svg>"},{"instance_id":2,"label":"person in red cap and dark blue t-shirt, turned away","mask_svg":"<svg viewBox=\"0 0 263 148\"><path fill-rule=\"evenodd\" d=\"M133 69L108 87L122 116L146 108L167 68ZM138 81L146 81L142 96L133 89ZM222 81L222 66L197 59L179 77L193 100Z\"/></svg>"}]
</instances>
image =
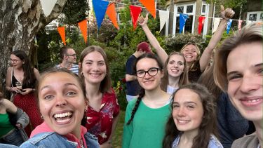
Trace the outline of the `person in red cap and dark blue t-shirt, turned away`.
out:
<instances>
[{"instance_id":1,"label":"person in red cap and dark blue t-shirt, turned away","mask_svg":"<svg viewBox=\"0 0 263 148\"><path fill-rule=\"evenodd\" d=\"M126 93L126 100L129 102L130 100L133 100L137 97L140 93L140 85L137 81L137 76L135 76L135 73L133 73L133 64L135 60L140 57L140 55L143 55L144 53L151 52L151 47L149 43L143 41L137 45L137 50L133 55L130 55L130 58L128 58L126 62L126 86L127 86L127 93Z\"/></svg>"}]
</instances>

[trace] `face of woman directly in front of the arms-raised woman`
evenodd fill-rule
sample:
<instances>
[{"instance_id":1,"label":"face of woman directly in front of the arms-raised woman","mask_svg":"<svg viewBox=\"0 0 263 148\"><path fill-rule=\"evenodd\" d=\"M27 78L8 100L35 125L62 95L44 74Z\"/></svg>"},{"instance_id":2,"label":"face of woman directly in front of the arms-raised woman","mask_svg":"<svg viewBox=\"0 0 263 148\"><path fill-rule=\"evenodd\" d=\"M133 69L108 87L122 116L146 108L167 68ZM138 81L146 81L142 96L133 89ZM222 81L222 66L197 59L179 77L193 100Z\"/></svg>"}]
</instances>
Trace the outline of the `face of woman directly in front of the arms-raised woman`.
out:
<instances>
[{"instance_id":1,"label":"face of woman directly in front of the arms-raised woman","mask_svg":"<svg viewBox=\"0 0 263 148\"><path fill-rule=\"evenodd\" d=\"M169 76L173 78L180 77L184 72L184 57L181 55L171 55L167 64Z\"/></svg>"}]
</instances>

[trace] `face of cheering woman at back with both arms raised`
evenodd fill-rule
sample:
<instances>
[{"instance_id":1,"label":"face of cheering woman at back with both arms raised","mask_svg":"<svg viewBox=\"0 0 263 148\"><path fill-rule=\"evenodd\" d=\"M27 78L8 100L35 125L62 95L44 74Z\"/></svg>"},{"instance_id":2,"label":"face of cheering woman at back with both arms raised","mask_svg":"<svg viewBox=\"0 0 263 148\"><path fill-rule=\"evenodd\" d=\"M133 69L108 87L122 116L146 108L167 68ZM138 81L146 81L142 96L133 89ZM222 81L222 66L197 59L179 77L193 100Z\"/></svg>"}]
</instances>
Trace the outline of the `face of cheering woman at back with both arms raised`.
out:
<instances>
[{"instance_id":1,"label":"face of cheering woman at back with both arms raised","mask_svg":"<svg viewBox=\"0 0 263 148\"><path fill-rule=\"evenodd\" d=\"M196 46L191 44L185 46L182 54L187 62L194 62L197 58Z\"/></svg>"}]
</instances>

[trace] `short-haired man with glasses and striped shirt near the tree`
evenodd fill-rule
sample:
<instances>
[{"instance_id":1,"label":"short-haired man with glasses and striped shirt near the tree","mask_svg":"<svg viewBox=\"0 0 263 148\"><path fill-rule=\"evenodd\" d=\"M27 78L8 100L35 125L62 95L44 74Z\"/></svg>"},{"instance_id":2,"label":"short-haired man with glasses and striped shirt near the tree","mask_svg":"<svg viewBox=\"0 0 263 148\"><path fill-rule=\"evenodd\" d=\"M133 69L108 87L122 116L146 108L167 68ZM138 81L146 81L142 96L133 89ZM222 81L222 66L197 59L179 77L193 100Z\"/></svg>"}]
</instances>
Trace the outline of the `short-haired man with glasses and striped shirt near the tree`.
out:
<instances>
[{"instance_id":1,"label":"short-haired man with glasses and striped shirt near the tree","mask_svg":"<svg viewBox=\"0 0 263 148\"><path fill-rule=\"evenodd\" d=\"M63 46L60 48L60 58L62 62L59 65L55 65L56 68L67 68L74 74L79 74L79 65L76 65L76 53L73 48L69 46Z\"/></svg>"}]
</instances>

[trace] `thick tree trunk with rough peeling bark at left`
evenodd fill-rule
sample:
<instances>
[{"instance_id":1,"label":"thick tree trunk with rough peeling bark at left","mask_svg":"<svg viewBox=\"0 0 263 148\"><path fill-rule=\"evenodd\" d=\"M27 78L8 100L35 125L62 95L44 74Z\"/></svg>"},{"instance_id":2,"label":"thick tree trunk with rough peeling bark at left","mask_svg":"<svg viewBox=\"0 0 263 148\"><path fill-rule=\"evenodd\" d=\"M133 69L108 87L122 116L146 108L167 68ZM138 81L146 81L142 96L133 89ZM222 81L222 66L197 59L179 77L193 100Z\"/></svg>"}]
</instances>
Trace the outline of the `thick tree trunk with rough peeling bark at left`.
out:
<instances>
[{"instance_id":1,"label":"thick tree trunk with rough peeling bark at left","mask_svg":"<svg viewBox=\"0 0 263 148\"><path fill-rule=\"evenodd\" d=\"M41 27L58 18L66 1L58 0L46 17L39 0L0 0L0 79L3 86L11 52L25 51L35 64L34 36Z\"/></svg>"}]
</instances>

